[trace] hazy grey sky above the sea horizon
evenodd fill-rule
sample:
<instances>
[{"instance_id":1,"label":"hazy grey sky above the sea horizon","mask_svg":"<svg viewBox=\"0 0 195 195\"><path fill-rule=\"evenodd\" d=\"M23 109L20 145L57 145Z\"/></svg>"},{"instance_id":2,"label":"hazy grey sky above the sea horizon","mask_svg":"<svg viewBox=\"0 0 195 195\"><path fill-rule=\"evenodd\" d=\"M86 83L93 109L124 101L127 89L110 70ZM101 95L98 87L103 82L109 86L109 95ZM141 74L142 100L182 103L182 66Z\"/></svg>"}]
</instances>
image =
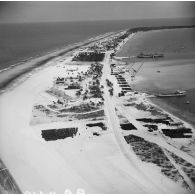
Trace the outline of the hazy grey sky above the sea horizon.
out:
<instances>
[{"instance_id":1,"label":"hazy grey sky above the sea horizon","mask_svg":"<svg viewBox=\"0 0 195 195\"><path fill-rule=\"evenodd\" d=\"M0 2L0 22L55 22L195 17L195 2Z\"/></svg>"}]
</instances>

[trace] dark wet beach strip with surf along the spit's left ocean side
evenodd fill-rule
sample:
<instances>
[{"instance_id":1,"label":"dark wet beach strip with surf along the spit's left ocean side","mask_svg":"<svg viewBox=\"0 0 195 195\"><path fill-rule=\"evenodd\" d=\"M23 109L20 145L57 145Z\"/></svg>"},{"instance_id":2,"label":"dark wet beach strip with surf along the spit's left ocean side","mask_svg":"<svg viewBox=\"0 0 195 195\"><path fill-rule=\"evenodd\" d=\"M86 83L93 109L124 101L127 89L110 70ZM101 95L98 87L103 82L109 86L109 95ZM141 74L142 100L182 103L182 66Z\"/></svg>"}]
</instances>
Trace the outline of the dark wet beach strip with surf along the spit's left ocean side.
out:
<instances>
[{"instance_id":1,"label":"dark wet beach strip with surf along the spit's left ocean side","mask_svg":"<svg viewBox=\"0 0 195 195\"><path fill-rule=\"evenodd\" d=\"M46 52L40 55L36 55L34 57L27 58L26 60L22 60L19 63L16 63L15 65L12 65L10 68L6 68L5 71L0 72L0 92L3 93L6 88L9 88L9 86L17 79L21 78L25 74L30 73L36 68L40 68L44 64L48 63L49 61L60 57L68 52L74 51L78 49L79 47L86 46L88 44L91 44L95 41L107 38L109 36L112 36L114 34L123 32L125 30L119 30L115 32L108 32L105 34L100 34L98 36L90 37L89 39L70 44L66 47L63 47L63 49L55 49L54 51Z\"/></svg>"}]
</instances>

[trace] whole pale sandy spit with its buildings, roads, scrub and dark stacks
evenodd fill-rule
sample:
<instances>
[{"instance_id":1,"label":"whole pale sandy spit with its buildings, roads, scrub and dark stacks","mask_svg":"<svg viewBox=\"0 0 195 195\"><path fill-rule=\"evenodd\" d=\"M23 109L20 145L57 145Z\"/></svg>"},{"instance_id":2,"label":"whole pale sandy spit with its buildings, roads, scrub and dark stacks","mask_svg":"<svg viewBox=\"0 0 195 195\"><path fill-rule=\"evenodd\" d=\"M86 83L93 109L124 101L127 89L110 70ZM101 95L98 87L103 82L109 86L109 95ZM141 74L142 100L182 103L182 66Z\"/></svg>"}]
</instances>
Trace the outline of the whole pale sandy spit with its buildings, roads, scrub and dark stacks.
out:
<instances>
[{"instance_id":1,"label":"whole pale sandy spit with its buildings, roads, scrub and dark stacks","mask_svg":"<svg viewBox=\"0 0 195 195\"><path fill-rule=\"evenodd\" d=\"M0 100L2 108L10 103L3 117L19 113L14 131L13 121L2 131L13 142L4 155L23 192L194 192L194 129L134 91L135 71L116 57L134 33L58 56Z\"/></svg>"}]
</instances>

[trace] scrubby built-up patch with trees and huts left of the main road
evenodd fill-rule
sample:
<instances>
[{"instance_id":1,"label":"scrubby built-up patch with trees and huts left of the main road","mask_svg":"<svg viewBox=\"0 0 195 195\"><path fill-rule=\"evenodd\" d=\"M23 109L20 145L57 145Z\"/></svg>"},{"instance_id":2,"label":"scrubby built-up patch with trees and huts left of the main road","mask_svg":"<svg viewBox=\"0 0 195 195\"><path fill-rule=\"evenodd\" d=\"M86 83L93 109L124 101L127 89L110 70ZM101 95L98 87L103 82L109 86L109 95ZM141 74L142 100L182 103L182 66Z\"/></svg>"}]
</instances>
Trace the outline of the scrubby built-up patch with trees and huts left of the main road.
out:
<instances>
[{"instance_id":1,"label":"scrubby built-up patch with trees and huts left of the main road","mask_svg":"<svg viewBox=\"0 0 195 195\"><path fill-rule=\"evenodd\" d=\"M58 76L53 86L45 91L50 97L44 105L36 103L34 106L31 124L103 116L102 64L92 63L84 69L82 66L71 68L67 65L66 70L65 77ZM74 75L70 76L69 71ZM43 95L39 96L42 98Z\"/></svg>"}]
</instances>

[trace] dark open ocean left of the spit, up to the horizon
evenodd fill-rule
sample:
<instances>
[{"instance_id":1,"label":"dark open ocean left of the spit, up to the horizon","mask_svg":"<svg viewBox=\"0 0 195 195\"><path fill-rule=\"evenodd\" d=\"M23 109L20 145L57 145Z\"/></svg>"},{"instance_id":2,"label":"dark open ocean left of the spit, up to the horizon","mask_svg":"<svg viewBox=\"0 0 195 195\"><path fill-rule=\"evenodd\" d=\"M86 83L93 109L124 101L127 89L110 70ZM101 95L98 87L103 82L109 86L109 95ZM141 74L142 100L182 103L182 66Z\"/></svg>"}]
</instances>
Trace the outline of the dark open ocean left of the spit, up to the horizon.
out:
<instances>
[{"instance_id":1,"label":"dark open ocean left of the spit, up to the horizon","mask_svg":"<svg viewBox=\"0 0 195 195\"><path fill-rule=\"evenodd\" d=\"M189 25L194 19L0 24L0 70L106 32L138 26Z\"/></svg>"}]
</instances>

